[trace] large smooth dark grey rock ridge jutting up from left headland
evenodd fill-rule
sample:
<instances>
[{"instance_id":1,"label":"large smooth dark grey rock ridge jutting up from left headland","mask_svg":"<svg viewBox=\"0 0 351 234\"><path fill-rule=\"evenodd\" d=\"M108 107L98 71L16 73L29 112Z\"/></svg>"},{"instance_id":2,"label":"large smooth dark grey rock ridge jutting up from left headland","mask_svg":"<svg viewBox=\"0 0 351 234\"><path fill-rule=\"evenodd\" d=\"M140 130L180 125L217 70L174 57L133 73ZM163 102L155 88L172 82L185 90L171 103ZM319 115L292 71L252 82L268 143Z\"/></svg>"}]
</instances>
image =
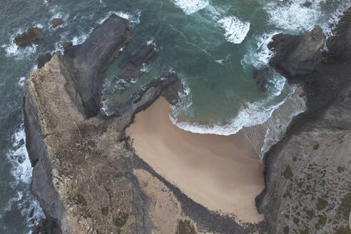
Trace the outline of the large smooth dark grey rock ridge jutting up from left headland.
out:
<instances>
[{"instance_id":1,"label":"large smooth dark grey rock ridge jutting up from left headland","mask_svg":"<svg viewBox=\"0 0 351 234\"><path fill-rule=\"evenodd\" d=\"M70 95L77 106L83 106L79 111L86 118L100 111L102 73L128 42L128 30L129 22L113 14L97 26L83 44L65 50L63 62L69 72L66 77L74 83L76 91Z\"/></svg>"}]
</instances>

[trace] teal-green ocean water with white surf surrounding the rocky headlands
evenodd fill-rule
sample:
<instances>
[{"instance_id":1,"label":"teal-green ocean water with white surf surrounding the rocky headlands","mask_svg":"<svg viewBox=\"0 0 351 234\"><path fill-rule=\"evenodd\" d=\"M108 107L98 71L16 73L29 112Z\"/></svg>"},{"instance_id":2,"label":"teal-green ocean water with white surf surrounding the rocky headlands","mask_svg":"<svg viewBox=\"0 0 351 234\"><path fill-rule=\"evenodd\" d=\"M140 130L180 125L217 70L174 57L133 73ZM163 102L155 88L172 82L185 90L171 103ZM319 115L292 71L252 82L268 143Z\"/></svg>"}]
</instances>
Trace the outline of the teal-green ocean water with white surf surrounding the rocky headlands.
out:
<instances>
[{"instance_id":1,"label":"teal-green ocean water with white surf surrounding the rocky headlands","mask_svg":"<svg viewBox=\"0 0 351 234\"><path fill-rule=\"evenodd\" d=\"M243 127L277 123L273 111L290 100L295 87L268 66L267 45L280 32L300 34L320 24L330 35L350 1L280 0L1 0L0 1L0 233L31 233L44 218L30 193L31 164L25 148L24 79L41 53L81 44L111 14L131 21L131 41L105 73L103 112L116 107L164 71L175 71L186 93L171 119L196 133L230 135ZM56 17L65 23L53 29ZM14 37L39 26L38 44L18 47ZM123 88L121 64L142 44L155 44L156 56L144 74ZM289 99L290 98L290 99ZM291 114L295 113L291 110ZM275 138L270 128L266 136ZM34 210L34 212L31 212ZM32 215L33 214L33 215ZM30 217L31 216L31 217Z\"/></svg>"}]
</instances>

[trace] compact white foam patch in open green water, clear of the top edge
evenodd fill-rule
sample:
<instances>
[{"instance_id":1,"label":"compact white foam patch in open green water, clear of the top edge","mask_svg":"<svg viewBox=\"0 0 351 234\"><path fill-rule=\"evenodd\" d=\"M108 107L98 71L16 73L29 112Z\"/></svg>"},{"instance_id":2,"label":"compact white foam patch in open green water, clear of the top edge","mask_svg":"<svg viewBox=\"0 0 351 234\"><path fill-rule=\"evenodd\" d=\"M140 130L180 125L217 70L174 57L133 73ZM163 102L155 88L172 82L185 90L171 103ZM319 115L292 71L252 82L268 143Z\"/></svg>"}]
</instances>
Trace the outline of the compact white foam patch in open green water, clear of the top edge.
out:
<instances>
[{"instance_id":1,"label":"compact white foam patch in open green water, clear of the top edge","mask_svg":"<svg viewBox=\"0 0 351 234\"><path fill-rule=\"evenodd\" d=\"M235 16L228 16L218 21L225 30L225 39L233 44L240 44L244 41L250 31L250 23L240 21Z\"/></svg>"}]
</instances>

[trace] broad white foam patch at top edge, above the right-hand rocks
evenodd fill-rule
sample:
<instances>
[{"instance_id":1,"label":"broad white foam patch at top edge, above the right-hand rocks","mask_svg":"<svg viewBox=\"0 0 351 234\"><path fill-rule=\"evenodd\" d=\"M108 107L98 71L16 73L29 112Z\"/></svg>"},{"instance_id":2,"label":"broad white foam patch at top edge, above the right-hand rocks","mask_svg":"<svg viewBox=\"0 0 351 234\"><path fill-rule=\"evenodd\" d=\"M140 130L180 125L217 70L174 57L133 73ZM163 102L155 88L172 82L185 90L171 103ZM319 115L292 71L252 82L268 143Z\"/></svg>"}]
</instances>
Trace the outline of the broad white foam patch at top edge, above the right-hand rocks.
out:
<instances>
[{"instance_id":1,"label":"broad white foam patch at top edge, above the right-hand rocks","mask_svg":"<svg viewBox=\"0 0 351 234\"><path fill-rule=\"evenodd\" d=\"M270 16L270 23L280 29L294 32L310 31L320 17L320 4L325 0L310 1L311 6L305 7L305 0L274 2L266 4L264 9Z\"/></svg>"}]
</instances>

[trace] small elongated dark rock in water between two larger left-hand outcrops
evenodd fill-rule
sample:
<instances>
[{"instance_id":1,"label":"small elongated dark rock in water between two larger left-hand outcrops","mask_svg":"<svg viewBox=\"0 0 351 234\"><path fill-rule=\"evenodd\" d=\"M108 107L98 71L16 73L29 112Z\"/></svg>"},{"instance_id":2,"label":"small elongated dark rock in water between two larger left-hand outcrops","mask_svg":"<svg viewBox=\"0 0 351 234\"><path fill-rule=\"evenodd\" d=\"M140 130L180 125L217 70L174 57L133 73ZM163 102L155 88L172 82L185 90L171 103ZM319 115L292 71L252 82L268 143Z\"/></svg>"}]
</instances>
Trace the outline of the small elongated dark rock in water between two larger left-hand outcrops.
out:
<instances>
[{"instance_id":1,"label":"small elongated dark rock in water between two larger left-hand outcrops","mask_svg":"<svg viewBox=\"0 0 351 234\"><path fill-rule=\"evenodd\" d=\"M140 77L143 74L141 71L141 68L143 68L143 63L146 63L148 59L153 56L155 51L155 46L152 44L141 46L141 48L136 51L136 54L133 54L131 59L128 59L128 63L122 69L121 76L118 78L123 78L126 81L130 81L131 78Z\"/></svg>"}]
</instances>

